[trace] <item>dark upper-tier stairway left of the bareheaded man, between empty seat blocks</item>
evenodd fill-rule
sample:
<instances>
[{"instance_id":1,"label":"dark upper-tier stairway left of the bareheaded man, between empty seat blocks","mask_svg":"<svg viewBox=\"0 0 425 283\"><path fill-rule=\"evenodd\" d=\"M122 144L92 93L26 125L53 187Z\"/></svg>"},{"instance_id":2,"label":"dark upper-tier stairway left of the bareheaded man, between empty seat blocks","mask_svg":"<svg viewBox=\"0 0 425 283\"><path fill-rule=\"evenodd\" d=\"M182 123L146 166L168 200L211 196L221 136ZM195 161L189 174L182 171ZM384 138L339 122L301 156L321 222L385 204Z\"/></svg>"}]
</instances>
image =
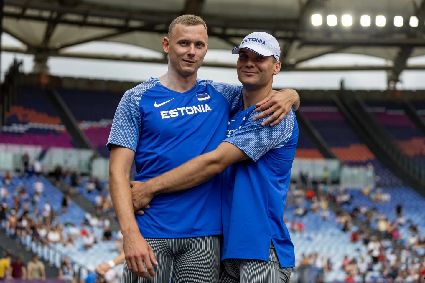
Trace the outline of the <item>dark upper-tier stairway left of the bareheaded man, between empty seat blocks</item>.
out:
<instances>
[{"instance_id":1,"label":"dark upper-tier stairway left of the bareheaded man, between empty seat blocks","mask_svg":"<svg viewBox=\"0 0 425 283\"><path fill-rule=\"evenodd\" d=\"M59 93L55 89L46 89L45 93L77 147L92 149L97 153L85 133L78 127L77 120L74 118L74 115L72 115Z\"/></svg>"}]
</instances>

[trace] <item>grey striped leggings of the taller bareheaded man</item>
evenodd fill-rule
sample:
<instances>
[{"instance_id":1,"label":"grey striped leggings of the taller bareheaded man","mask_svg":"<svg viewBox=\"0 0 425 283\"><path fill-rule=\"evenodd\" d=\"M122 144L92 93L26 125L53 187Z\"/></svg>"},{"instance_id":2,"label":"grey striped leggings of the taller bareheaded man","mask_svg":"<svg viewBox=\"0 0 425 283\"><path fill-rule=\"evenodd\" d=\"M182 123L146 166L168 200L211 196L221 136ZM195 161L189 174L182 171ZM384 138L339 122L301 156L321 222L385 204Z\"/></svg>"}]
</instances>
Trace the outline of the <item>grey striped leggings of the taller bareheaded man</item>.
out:
<instances>
[{"instance_id":1,"label":"grey striped leggings of the taller bareheaded man","mask_svg":"<svg viewBox=\"0 0 425 283\"><path fill-rule=\"evenodd\" d=\"M122 283L218 283L220 236L158 239L146 238L158 261L155 277L144 279L131 272L127 263Z\"/></svg>"}]
</instances>

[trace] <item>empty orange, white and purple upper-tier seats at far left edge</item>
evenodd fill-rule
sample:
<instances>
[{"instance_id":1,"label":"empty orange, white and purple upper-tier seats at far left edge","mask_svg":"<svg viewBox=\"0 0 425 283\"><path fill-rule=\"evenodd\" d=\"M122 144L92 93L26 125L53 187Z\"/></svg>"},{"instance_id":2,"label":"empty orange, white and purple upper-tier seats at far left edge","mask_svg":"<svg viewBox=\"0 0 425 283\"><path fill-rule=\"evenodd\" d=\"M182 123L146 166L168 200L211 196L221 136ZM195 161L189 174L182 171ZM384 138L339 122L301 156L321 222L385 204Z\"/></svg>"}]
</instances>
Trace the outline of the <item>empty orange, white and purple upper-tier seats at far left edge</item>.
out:
<instances>
[{"instance_id":1,"label":"empty orange, white and purple upper-tier seats at far left edge","mask_svg":"<svg viewBox=\"0 0 425 283\"><path fill-rule=\"evenodd\" d=\"M2 130L0 143L3 144L73 147L71 136L41 88L21 88Z\"/></svg>"}]
</instances>

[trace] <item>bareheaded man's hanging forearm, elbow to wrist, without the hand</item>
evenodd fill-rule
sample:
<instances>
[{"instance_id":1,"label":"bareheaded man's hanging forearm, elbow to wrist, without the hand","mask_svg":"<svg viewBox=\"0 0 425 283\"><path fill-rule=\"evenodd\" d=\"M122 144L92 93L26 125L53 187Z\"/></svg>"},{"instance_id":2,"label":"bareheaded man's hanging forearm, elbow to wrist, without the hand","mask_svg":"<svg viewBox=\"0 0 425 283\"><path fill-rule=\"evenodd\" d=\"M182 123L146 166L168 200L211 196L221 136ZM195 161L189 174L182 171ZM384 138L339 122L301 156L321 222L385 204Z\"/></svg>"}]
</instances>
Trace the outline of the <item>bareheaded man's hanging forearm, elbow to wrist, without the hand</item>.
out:
<instances>
[{"instance_id":1,"label":"bareheaded man's hanging forearm, elbow to wrist, without the hand","mask_svg":"<svg viewBox=\"0 0 425 283\"><path fill-rule=\"evenodd\" d=\"M117 169L118 171L110 170L109 188L116 218L118 218L122 234L125 235L138 228L131 200L130 176Z\"/></svg>"}]
</instances>

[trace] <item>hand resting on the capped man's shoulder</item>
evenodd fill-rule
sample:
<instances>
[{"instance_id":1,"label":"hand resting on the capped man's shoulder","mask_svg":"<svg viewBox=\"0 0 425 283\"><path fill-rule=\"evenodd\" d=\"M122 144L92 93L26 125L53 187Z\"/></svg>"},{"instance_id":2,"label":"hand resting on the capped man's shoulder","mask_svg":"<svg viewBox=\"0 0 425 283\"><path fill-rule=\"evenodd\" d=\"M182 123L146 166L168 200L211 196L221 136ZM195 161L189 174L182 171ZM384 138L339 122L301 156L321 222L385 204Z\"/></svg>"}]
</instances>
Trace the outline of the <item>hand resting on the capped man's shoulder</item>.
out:
<instances>
[{"instance_id":1,"label":"hand resting on the capped man's shoulder","mask_svg":"<svg viewBox=\"0 0 425 283\"><path fill-rule=\"evenodd\" d=\"M253 120L255 121L267 117L273 113L272 116L261 123L261 126L263 127L268 124L270 124L270 127L273 127L282 122L286 114L291 111L291 108L294 108L294 110L298 109L300 106L300 96L295 90L287 88L267 96L255 106L257 108L255 108L252 113L259 111L263 111L263 113L255 116Z\"/></svg>"}]
</instances>

